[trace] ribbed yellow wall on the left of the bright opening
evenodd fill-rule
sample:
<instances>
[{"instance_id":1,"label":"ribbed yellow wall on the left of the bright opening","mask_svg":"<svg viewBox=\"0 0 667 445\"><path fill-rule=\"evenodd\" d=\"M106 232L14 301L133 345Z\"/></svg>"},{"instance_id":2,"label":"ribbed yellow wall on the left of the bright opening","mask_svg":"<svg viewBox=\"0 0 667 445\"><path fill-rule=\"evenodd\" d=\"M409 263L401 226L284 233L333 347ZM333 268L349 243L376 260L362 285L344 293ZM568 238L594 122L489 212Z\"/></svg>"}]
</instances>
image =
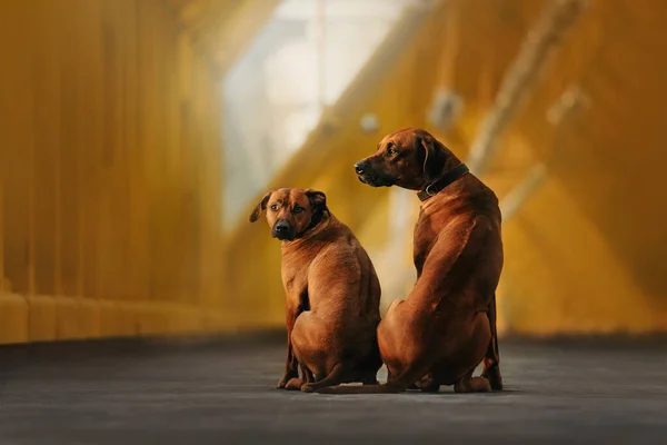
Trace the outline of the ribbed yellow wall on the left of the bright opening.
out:
<instances>
[{"instance_id":1,"label":"ribbed yellow wall on the left of the bright opening","mask_svg":"<svg viewBox=\"0 0 667 445\"><path fill-rule=\"evenodd\" d=\"M0 3L0 343L231 328L219 73L161 0Z\"/></svg>"}]
</instances>

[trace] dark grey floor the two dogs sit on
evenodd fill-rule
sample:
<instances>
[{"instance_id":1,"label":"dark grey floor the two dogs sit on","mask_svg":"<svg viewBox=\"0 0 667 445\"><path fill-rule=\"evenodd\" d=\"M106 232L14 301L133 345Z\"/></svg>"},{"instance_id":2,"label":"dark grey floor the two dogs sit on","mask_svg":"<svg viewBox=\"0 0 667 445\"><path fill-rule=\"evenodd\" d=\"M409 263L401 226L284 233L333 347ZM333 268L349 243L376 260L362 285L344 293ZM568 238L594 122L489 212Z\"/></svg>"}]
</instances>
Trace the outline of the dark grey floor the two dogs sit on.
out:
<instances>
[{"instance_id":1,"label":"dark grey floor the two dogs sit on","mask_svg":"<svg viewBox=\"0 0 667 445\"><path fill-rule=\"evenodd\" d=\"M500 347L502 393L376 396L273 389L276 340L6 347L0 445L667 444L667 343Z\"/></svg>"}]
</instances>

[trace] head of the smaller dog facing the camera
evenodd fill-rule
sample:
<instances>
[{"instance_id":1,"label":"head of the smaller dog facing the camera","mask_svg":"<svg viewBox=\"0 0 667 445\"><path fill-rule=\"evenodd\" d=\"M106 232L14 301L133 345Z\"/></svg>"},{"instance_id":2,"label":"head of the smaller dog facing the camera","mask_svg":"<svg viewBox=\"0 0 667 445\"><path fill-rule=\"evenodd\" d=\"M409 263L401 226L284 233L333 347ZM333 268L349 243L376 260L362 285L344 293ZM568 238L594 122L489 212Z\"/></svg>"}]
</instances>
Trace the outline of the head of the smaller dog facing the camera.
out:
<instances>
[{"instance_id":1,"label":"head of the smaller dog facing the camera","mask_svg":"<svg viewBox=\"0 0 667 445\"><path fill-rule=\"evenodd\" d=\"M323 192L311 189L281 188L267 191L249 219L250 222L255 222L266 212L273 238L291 241L316 226L325 211L328 209L327 197Z\"/></svg>"}]
</instances>

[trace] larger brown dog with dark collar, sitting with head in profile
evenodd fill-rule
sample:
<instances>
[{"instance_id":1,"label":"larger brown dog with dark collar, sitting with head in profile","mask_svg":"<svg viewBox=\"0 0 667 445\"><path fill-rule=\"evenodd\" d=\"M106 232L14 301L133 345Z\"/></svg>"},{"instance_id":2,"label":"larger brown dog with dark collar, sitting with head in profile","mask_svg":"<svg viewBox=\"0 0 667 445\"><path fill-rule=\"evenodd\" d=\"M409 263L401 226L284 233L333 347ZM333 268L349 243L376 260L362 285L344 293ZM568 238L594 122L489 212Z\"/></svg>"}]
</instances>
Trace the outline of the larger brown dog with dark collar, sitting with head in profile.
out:
<instances>
[{"instance_id":1,"label":"larger brown dog with dark collar, sitting with head in profile","mask_svg":"<svg viewBox=\"0 0 667 445\"><path fill-rule=\"evenodd\" d=\"M417 283L406 300L391 304L378 326L387 384L321 392L392 393L414 385L425 392L440 385L454 385L459 393L501 389L496 287L502 241L496 195L420 129L386 136L355 169L374 187L420 190ZM482 376L472 377L482 360Z\"/></svg>"}]
</instances>

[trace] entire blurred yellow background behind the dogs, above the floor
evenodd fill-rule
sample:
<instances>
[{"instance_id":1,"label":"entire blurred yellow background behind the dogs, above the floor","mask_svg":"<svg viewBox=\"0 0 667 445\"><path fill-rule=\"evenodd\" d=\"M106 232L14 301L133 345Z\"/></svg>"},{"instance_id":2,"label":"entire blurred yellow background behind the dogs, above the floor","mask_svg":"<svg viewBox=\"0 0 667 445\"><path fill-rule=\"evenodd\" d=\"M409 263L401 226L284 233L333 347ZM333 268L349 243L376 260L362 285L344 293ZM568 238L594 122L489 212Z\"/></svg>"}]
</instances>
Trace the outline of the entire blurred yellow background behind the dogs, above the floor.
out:
<instances>
[{"instance_id":1,"label":"entire blurred yellow background behind the dogs, above the floor","mask_svg":"<svg viewBox=\"0 0 667 445\"><path fill-rule=\"evenodd\" d=\"M421 127L498 195L502 335L667 330L659 0L0 2L0 343L280 329L247 217L323 190L382 310L414 192L352 164ZM663 147L663 148L660 148Z\"/></svg>"}]
</instances>

